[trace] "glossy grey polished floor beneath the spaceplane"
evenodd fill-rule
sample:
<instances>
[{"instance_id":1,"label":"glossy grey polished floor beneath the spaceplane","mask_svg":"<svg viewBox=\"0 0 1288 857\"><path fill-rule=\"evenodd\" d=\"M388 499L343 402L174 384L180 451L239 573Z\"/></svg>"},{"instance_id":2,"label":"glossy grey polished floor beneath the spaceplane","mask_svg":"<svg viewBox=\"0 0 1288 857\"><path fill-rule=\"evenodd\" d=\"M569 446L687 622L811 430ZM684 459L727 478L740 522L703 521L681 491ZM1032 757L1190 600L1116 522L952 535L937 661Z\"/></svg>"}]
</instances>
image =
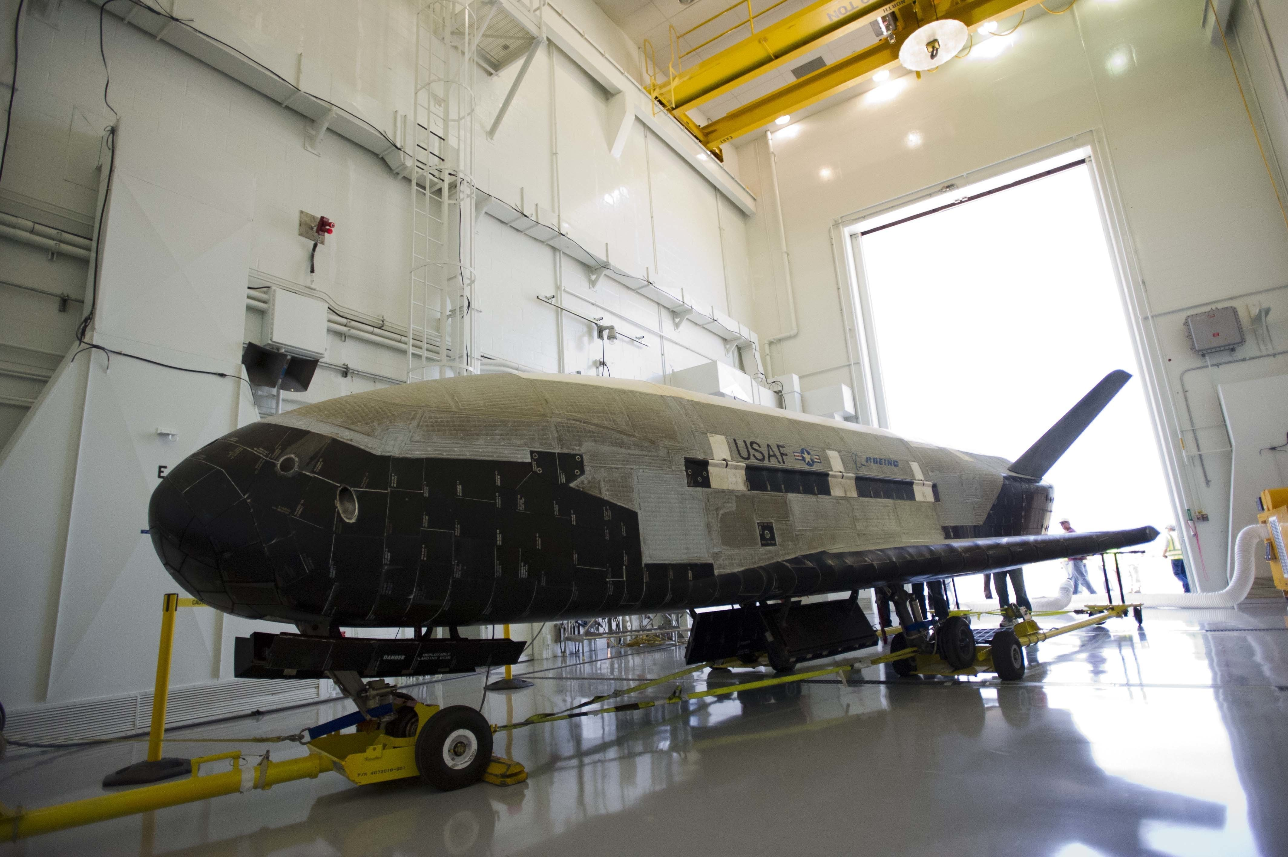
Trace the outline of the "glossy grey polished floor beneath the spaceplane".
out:
<instances>
[{"instance_id":1,"label":"glossy grey polished floor beneath the spaceplane","mask_svg":"<svg viewBox=\"0 0 1288 857\"><path fill-rule=\"evenodd\" d=\"M1283 601L1149 611L1144 629L1115 620L1028 653L1025 680L1003 687L877 668L849 687L815 680L799 695L741 692L524 728L497 737L497 753L529 772L509 789L358 787L326 773L0 854L1288 854ZM663 648L527 664L519 671L536 687L489 693L486 714L522 720L680 662L680 650ZM413 692L478 705L480 687L466 677ZM343 711L328 704L182 735L279 735ZM100 777L142 751L10 755L0 802L100 794ZM300 751L274 745L273 758Z\"/></svg>"}]
</instances>

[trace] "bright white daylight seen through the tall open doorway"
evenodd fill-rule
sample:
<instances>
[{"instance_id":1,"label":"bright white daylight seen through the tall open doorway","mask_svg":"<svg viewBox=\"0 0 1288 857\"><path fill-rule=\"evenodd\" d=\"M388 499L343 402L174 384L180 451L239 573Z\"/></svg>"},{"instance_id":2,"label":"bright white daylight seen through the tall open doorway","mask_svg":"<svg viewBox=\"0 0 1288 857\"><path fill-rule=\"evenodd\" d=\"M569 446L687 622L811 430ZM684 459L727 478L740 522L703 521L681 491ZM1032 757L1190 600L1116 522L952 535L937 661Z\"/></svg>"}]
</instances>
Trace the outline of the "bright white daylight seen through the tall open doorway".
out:
<instances>
[{"instance_id":1,"label":"bright white daylight seen through the tall open doorway","mask_svg":"<svg viewBox=\"0 0 1288 857\"><path fill-rule=\"evenodd\" d=\"M1046 476L1055 486L1051 530L1069 518L1082 531L1162 531L1171 505L1088 166L877 228L947 201L884 214L854 238L887 428L1014 460L1106 372L1126 369L1132 380ZM1177 590L1162 541L1144 549L1122 558L1123 583ZM1099 562L1088 571L1101 590ZM1064 573L1059 562L1030 568L1029 592L1054 593ZM960 588L962 598L979 597L972 584Z\"/></svg>"}]
</instances>

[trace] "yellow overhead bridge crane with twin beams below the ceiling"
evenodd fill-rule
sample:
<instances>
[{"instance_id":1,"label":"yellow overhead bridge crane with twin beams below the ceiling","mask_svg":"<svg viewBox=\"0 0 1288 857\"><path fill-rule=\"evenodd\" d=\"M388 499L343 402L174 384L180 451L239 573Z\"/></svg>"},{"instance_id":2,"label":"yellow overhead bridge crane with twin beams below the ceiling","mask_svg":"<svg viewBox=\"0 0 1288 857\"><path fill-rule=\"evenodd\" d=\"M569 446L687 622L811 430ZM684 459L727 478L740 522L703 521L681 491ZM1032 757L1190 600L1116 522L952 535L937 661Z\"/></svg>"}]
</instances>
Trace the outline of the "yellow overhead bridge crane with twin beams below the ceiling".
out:
<instances>
[{"instance_id":1,"label":"yellow overhead bridge crane with twin beams below the ceiling","mask_svg":"<svg viewBox=\"0 0 1288 857\"><path fill-rule=\"evenodd\" d=\"M679 39L687 34L671 34L668 77L661 81L657 80L657 62L653 59L653 49L645 44L645 70L650 77L648 90L662 107L698 138L698 142L716 157L720 157L720 146L735 137L764 128L779 116L809 107L858 84L881 68L896 64L903 43L922 24L935 19L953 18L961 21L974 32L983 23L1019 14L1039 4L1041 0L939 0L939 3L934 0L884 0L878 3L819 0L782 21L757 30L756 17L779 4L774 3L768 9L753 13L750 0L739 0L688 32L746 5L747 21L720 35L728 35L741 26L748 26L751 35L692 68L680 68L687 54L680 53ZM800 59L829 41L873 24L875 30L885 34L885 39L878 40L875 45L743 104L707 125L699 126L685 115L687 111L701 107L712 98L717 98L760 75ZM688 53L693 53L693 50Z\"/></svg>"}]
</instances>

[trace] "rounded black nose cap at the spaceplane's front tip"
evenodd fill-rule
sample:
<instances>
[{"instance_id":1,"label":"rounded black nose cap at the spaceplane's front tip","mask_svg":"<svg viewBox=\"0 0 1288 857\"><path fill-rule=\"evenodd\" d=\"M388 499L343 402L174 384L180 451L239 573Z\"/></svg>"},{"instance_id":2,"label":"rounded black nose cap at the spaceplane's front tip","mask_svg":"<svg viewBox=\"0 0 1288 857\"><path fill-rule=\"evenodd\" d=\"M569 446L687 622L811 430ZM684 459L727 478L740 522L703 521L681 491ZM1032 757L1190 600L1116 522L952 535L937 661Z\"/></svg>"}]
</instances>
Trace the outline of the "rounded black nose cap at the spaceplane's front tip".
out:
<instances>
[{"instance_id":1,"label":"rounded black nose cap at the spaceplane's front tip","mask_svg":"<svg viewBox=\"0 0 1288 857\"><path fill-rule=\"evenodd\" d=\"M263 553L250 504L227 469L196 457L178 464L148 504L152 546L193 597L232 611L224 571L241 553Z\"/></svg>"}]
</instances>

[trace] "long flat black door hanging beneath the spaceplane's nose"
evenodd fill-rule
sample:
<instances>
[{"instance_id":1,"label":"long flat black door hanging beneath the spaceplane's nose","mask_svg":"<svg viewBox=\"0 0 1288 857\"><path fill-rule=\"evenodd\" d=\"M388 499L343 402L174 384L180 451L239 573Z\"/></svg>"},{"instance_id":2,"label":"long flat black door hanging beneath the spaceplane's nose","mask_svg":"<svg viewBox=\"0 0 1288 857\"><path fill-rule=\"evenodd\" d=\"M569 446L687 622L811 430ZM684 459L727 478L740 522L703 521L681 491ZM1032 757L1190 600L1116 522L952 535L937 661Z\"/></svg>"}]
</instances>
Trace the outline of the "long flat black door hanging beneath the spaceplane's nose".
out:
<instances>
[{"instance_id":1,"label":"long flat black door hanging beneath the spaceplane's nose","mask_svg":"<svg viewBox=\"0 0 1288 857\"><path fill-rule=\"evenodd\" d=\"M264 634L238 637L237 678L326 678L353 671L362 678L473 673L518 662L526 643L513 639L367 639Z\"/></svg>"}]
</instances>

